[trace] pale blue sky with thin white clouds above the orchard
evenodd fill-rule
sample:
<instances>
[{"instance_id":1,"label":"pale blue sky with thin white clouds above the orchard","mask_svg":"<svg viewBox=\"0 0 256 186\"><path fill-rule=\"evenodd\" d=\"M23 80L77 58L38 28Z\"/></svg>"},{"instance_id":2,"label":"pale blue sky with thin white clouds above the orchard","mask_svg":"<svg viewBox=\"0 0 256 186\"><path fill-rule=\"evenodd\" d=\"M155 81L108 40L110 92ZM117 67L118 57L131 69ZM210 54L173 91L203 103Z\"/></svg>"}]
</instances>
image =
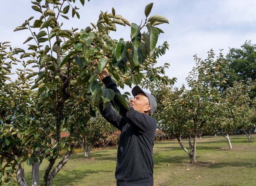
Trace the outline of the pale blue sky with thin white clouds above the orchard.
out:
<instances>
[{"instance_id":1,"label":"pale blue sky with thin white clouds above the orchard","mask_svg":"<svg viewBox=\"0 0 256 186\"><path fill-rule=\"evenodd\" d=\"M39 12L34 11L29 0L0 0L0 42L11 41L12 48L28 48L22 44L29 36L28 30L13 32L14 28L31 16L39 18ZM44 2L44 0L42 1ZM256 44L256 1L255 0L85 0L84 7L76 0L80 19L71 17L69 20L61 17L62 29L85 28L96 23L100 11L111 13L112 7L116 14L122 15L130 23L140 25L145 21L144 9L149 3L154 3L149 16L160 14L169 20L169 24L158 27L164 31L158 38L158 45L167 41L169 50L160 57L157 65L169 63L165 75L178 78L174 86L186 85L185 78L195 66L194 55L205 59L207 51L213 49L216 54L223 49L226 55L229 48L240 48L247 40ZM31 22L33 23L33 21ZM129 41L130 27L117 26L117 31L110 34L112 39ZM125 88L121 92L130 92Z\"/></svg>"}]
</instances>

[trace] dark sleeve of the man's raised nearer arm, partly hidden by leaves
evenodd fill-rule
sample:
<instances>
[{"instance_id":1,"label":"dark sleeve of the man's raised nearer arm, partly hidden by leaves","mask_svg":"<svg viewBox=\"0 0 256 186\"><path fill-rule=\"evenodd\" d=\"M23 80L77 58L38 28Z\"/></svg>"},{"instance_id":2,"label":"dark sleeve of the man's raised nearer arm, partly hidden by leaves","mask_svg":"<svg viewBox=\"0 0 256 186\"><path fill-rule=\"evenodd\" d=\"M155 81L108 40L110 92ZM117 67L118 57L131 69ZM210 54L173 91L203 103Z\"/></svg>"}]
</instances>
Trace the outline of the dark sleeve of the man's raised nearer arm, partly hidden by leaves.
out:
<instances>
[{"instance_id":1,"label":"dark sleeve of the man's raised nearer arm, partly hidden by leaves","mask_svg":"<svg viewBox=\"0 0 256 186\"><path fill-rule=\"evenodd\" d=\"M102 81L107 88L112 89L114 92L120 93L120 91L116 87L116 83L112 81L110 76L103 78ZM112 101L111 101L111 104L113 105ZM103 107L103 103L102 103L102 107ZM157 124L156 124L156 120L153 117L151 117L147 114L140 113L140 112L134 110L133 107L129 107L129 108L130 108L130 111L127 110L126 108L124 108L124 106L120 105L119 113L123 117L123 119L126 122L128 122L132 127L134 127L136 130L138 130L141 133L145 133L149 130L150 131L156 130ZM112 109L112 111L113 111L113 109ZM116 115L116 112L115 111L113 111L113 112L114 113L111 113L111 115L112 114ZM115 117L118 117L118 116L115 116ZM121 121L121 119L120 119L120 121Z\"/></svg>"}]
</instances>

